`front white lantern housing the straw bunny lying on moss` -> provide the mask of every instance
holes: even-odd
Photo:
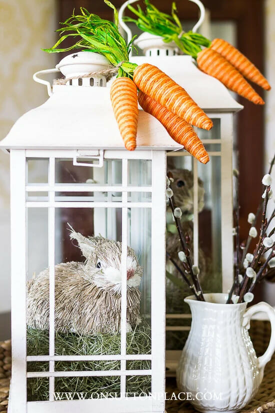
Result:
[[[58,72],[60,68],[67,77],[79,76],[107,64],[102,56],[81,52],[67,56],[57,69],[45,72]],[[37,74],[34,78],[38,80]],[[137,149],[126,151],[102,76],[75,79],[66,86],[54,85],[52,90],[48,82],[40,83],[47,85],[49,99],[24,114],[0,143],[0,147],[10,153],[11,182],[12,378],[8,411],[163,412],[166,151],[181,147],[158,121],[139,111]],[[122,243],[121,260],[118,256],[120,281],[116,281],[118,291],[121,285],[121,331],[117,332],[120,351],[114,354],[107,348],[96,354],[68,355],[56,347],[55,323],[59,315],[55,314],[54,307],[59,305],[60,309],[60,302],[57,304],[55,298],[55,265],[66,261],[64,242],[69,237],[69,232],[63,231],[67,228],[66,222],[77,231],[83,211],[89,212],[84,214],[84,218],[89,216],[89,219],[82,222],[89,235],[101,235]],[[129,328],[127,245],[133,248],[143,268],[140,315],[149,325],[151,348],[146,353],[140,351],[138,344],[131,348],[126,338]],[[106,259],[113,258],[112,251],[107,255]],[[43,306],[44,300],[49,302],[48,345],[43,352],[38,342],[33,353],[29,352],[26,334],[26,282],[31,282],[34,272],[37,277],[46,267],[49,268],[49,296],[41,295],[40,304]],[[64,313],[74,304],[66,301],[66,288],[64,284]],[[35,322],[39,325],[41,320]],[[100,368],[60,368],[60,363],[75,366],[83,361],[97,363]],[[132,369],[132,361],[148,361],[149,367]],[[115,368],[107,367],[114,362]],[[32,368],[28,367],[30,363]],[[135,395],[127,394],[129,383],[133,383],[132,391],[135,380],[141,376],[149,383],[146,394],[139,388]],[[94,385],[92,388],[95,393],[102,391],[105,394],[102,397],[79,396],[77,385],[71,388],[71,392],[75,391],[72,396],[56,397],[56,391],[62,391],[58,384],[61,379],[65,378],[69,386],[73,379],[81,381],[83,377],[95,381],[111,377],[118,383],[119,395],[110,396],[108,392],[106,395],[107,390],[98,384],[96,391]],[[38,387],[46,386],[43,397],[27,394],[27,383],[35,380]]]

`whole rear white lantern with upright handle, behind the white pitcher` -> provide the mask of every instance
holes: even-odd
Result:
[[[129,0],[119,11],[120,25],[126,31],[128,40],[132,34],[122,22],[122,15]],[[191,0],[193,1],[193,0]],[[204,7],[195,0],[200,9],[200,19],[193,28],[196,31],[204,18]],[[192,173],[193,185],[189,190],[192,221],[193,263],[199,265],[200,255],[207,255],[207,280],[210,290],[205,292],[227,292],[233,281],[233,114],[242,109],[228,90],[215,78],[201,72],[190,56],[178,55],[179,50],[173,43],[164,43],[158,36],[142,33],[134,44],[141,49],[144,56],[131,57],[136,64],[149,63],[158,67],[177,84],[182,86],[192,99],[204,110],[213,121],[213,128],[206,132],[194,128],[201,139],[210,161],[201,165],[186,151],[169,152],[167,161],[173,168],[189,170]],[[167,167],[167,169],[169,169]],[[180,181],[182,181],[180,179]],[[200,199],[200,186],[204,187],[204,199]],[[190,201],[188,201],[190,203]],[[204,203],[203,211],[201,211]],[[182,206],[182,205],[176,205]],[[169,241],[167,241],[169,242]],[[176,254],[177,255],[177,251]],[[210,263],[210,265],[209,265]],[[172,265],[170,265],[172,268]],[[177,273],[177,271],[175,271]],[[202,273],[202,271],[201,271]],[[201,275],[203,276],[203,274]],[[203,284],[203,281],[202,281]],[[209,282],[208,282],[209,285]],[[209,288],[209,287],[208,287]],[[174,289],[178,290],[175,286]],[[190,313],[184,308],[184,294],[177,291],[179,305],[174,290],[168,296],[166,291],[166,368],[167,375],[175,375],[177,361],[181,354],[186,334],[190,329]],[[189,291],[186,292],[189,295]],[[180,298],[181,297],[181,298]],[[170,298],[170,299],[169,299]]]

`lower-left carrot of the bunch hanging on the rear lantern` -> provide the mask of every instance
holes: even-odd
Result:
[[[197,66],[202,72],[218,79],[226,88],[243,96],[256,105],[263,105],[261,97],[242,75],[213,49],[205,48],[197,54]]]

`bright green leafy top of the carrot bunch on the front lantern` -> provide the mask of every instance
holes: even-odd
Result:
[[[114,12],[114,23],[103,20],[97,15],[89,13],[86,9],[80,8],[81,15],[75,15],[74,11],[64,23],[60,32],[60,39],[51,49],[44,49],[45,52],[67,52],[69,50],[81,50],[99,53],[107,58],[112,66],[118,66],[118,77],[132,78],[136,64],[129,62],[129,50],[132,41],[127,45],[118,31],[118,16],[115,7],[104,0],[106,5]],[[77,41],[70,47],[61,49],[58,46],[67,38],[72,37]]]

